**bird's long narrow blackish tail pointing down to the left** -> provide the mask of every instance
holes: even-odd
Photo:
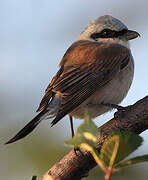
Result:
[[[18,141],[24,138],[25,136],[27,136],[28,134],[30,134],[35,129],[35,127],[42,121],[43,119],[42,117],[46,112],[47,112],[46,110],[41,111],[23,129],[21,129],[12,139],[10,139],[5,144],[14,143],[15,141]]]

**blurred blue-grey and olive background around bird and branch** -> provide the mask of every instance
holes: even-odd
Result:
[[[148,94],[148,1],[147,0],[0,0],[0,179],[29,180],[41,177],[70,150],[64,141],[71,137],[69,120],[50,128],[44,121],[29,136],[4,146],[35,115],[44,90],[58,70],[66,49],[98,16],[109,14],[136,30],[141,38],[131,41],[135,59],[134,82],[122,105],[129,105]],[[98,126],[113,112],[98,117]],[[75,120],[75,128],[82,121]],[[146,140],[132,156],[146,154]],[[128,167],[114,180],[147,180],[148,164]],[[104,179],[99,168],[88,180]]]

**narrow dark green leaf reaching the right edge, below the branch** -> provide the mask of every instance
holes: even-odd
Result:
[[[143,155],[143,156],[137,156],[132,159],[128,159],[126,161],[122,161],[119,164],[117,164],[115,167],[121,168],[121,167],[129,166],[129,165],[137,164],[137,163],[143,163],[143,162],[148,162],[148,154]]]

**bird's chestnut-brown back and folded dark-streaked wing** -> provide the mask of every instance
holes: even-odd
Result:
[[[61,94],[62,103],[52,121],[54,125],[108,83],[129,57],[130,51],[121,45],[90,41],[74,43],[67,50],[60,70],[46,89],[39,110],[47,106],[53,94]]]

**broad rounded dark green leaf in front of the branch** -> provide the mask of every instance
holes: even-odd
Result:
[[[100,159],[106,167],[113,166],[135,151],[142,144],[142,137],[131,132],[115,132],[104,142]]]

